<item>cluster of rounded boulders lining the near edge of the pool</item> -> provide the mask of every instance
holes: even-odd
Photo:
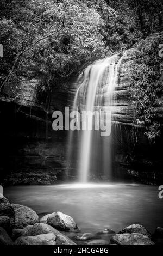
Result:
[[[66,232],[67,235],[62,232]],[[163,228],[156,233],[163,236]],[[68,237],[69,236],[69,237]],[[102,236],[106,236],[103,239]],[[70,239],[71,237],[71,239]],[[111,237],[110,242],[108,237]],[[71,216],[53,212],[40,218],[27,206],[10,204],[0,194],[0,245],[154,245],[142,225],[133,224],[118,234],[111,229],[81,233]]]

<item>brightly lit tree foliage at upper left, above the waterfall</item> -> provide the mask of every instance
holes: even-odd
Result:
[[[22,51],[8,83],[16,83],[21,77],[39,77],[41,90],[52,89],[80,65],[106,54],[104,21],[85,1],[11,0],[1,5],[2,83]],[[58,27],[58,33],[30,48]]]

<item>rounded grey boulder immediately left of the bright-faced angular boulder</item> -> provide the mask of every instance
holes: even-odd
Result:
[[[39,216],[31,208],[20,204],[11,206],[15,212],[15,228],[24,228],[39,222]]]

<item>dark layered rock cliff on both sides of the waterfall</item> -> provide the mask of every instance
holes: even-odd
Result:
[[[135,124],[135,106],[128,84],[133,50],[117,54],[115,61],[120,58],[114,92],[117,105],[112,117],[116,131],[112,141],[114,176],[159,184],[163,179],[162,135],[155,144],[151,144],[144,135],[144,127]],[[79,84],[74,78],[67,81],[64,88],[54,89],[45,102],[37,98],[38,86],[38,80],[23,81],[18,95],[15,96],[10,86],[5,92],[8,96],[1,96],[1,173],[5,184],[51,184],[65,179],[68,133],[52,130],[52,113],[55,110],[64,112],[65,106],[72,107]],[[162,121],[162,95],[159,100],[158,116]],[[74,176],[72,172],[71,178]],[[101,178],[100,172],[98,178]]]

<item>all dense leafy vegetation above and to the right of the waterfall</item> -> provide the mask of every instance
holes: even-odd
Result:
[[[161,29],[162,15],[162,0],[0,0],[1,93],[12,85],[18,95],[22,78],[39,78],[40,92],[51,92],[83,64],[138,44],[131,86],[154,138],[160,60],[158,42],[144,39]]]

